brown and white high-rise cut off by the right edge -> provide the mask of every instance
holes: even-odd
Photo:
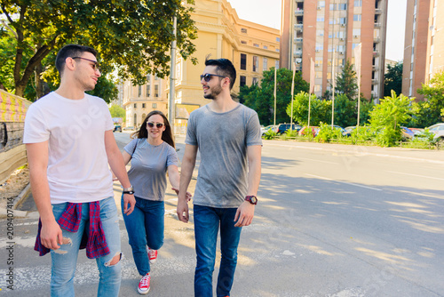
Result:
[[[438,13],[441,12],[441,13]],[[402,70],[402,93],[424,100],[417,93],[434,74],[444,70],[444,2],[408,0]]]

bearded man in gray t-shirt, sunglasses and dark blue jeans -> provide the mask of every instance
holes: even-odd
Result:
[[[203,95],[212,100],[189,117],[181,166],[178,219],[188,221],[186,189],[197,151],[201,165],[194,192],[197,264],[194,296],[212,296],[212,271],[220,228],[222,259],[216,293],[229,296],[242,226],[249,226],[258,203],[262,140],[258,114],[230,95],[236,70],[230,60],[206,60]],[[220,227],[219,227],[220,226]]]

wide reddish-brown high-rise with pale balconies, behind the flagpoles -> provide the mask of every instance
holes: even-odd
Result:
[[[362,44],[361,92],[382,98],[386,22],[387,0],[282,0],[281,67],[296,65],[309,82],[313,59],[314,93],[321,96]]]

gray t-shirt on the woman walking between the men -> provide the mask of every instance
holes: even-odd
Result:
[[[134,187],[134,195],[142,199],[163,201],[168,166],[178,165],[176,149],[164,141],[158,146],[151,145],[146,138],[131,140],[124,149],[132,156],[128,177]]]

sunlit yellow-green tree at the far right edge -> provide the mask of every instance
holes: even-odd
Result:
[[[429,84],[423,84],[418,93],[424,95],[428,104],[423,104],[426,112],[422,121],[426,126],[444,122],[444,70],[436,73]]]

